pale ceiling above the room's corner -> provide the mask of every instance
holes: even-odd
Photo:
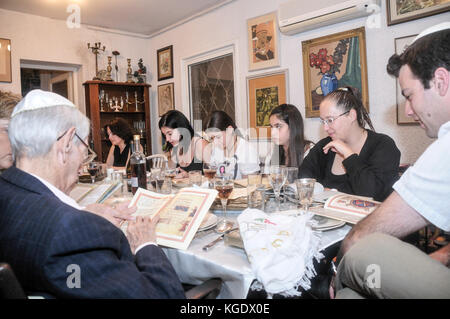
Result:
[[[58,20],[67,20],[79,8],[82,25],[151,37],[231,1],[0,0],[0,8]]]

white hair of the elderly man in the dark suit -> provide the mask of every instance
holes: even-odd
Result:
[[[89,135],[89,119],[74,107],[57,105],[18,113],[8,128],[13,159],[47,155],[58,137],[71,127],[83,140]],[[74,141],[81,143],[77,138]]]

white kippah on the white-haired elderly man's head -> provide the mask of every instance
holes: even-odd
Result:
[[[72,102],[59,94],[42,90],[32,90],[16,105],[11,118],[25,111],[61,105],[75,107]]]

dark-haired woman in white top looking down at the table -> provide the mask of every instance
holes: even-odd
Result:
[[[224,111],[214,111],[206,124],[206,134],[212,141],[210,162],[240,179],[259,171],[258,152],[242,137],[233,119]]]

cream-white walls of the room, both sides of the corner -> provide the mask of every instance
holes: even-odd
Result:
[[[77,100],[81,110],[85,109],[84,88],[82,83],[92,79],[95,73],[95,58],[87,49],[88,42],[102,42],[106,52],[99,55],[99,69],[104,69],[107,56],[113,50],[120,52],[118,60],[121,71],[120,81],[125,79],[126,58],[132,58],[133,70],[137,60],[144,59],[148,69],[148,82],[152,85],[151,122],[153,129],[153,151],[161,149],[161,138],[157,112],[158,85],[175,82],[175,103],[177,109],[187,115],[188,105],[185,92],[187,83],[182,62],[204,52],[234,45],[236,72],[236,118],[237,125],[247,127],[247,88],[246,78],[251,75],[289,70],[289,102],[296,105],[305,116],[303,65],[301,42],[332,33],[364,26],[366,19],[356,19],[294,36],[280,34],[281,65],[262,71],[248,71],[247,19],[276,11],[285,0],[236,0],[195,20],[169,30],[150,39],[118,35],[102,31],[67,28],[65,21],[57,21],[29,14],[0,9],[0,36],[12,41],[13,82],[0,83],[0,90],[20,93],[20,60],[59,62],[80,66],[76,79]],[[396,124],[395,79],[388,76],[385,69],[388,58],[394,52],[394,39],[417,34],[428,26],[450,20],[450,12],[401,23],[388,27],[386,24],[385,1],[382,1],[381,28],[366,28],[366,46],[368,61],[370,115],[379,132],[390,135],[402,152],[402,162],[414,162],[430,144],[422,129],[418,126],[398,126]],[[174,78],[157,81],[156,50],[173,45]],[[113,59],[114,60],[114,59]],[[305,119],[306,136],[318,141],[325,134],[317,119]],[[156,133],[156,134],[155,134]]]

